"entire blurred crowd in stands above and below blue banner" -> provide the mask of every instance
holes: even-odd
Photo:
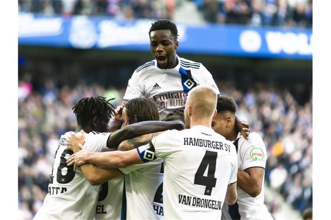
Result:
[[[189,5],[192,7],[187,7],[187,11],[181,10]],[[312,26],[312,0],[19,0],[18,10],[64,17],[108,16],[119,20],[168,18],[189,22],[188,19],[194,18],[193,22],[197,23]],[[184,15],[194,16],[178,16],[180,10]],[[60,136],[76,129],[74,104],[83,97],[100,95],[116,98],[112,104],[120,105],[127,79],[138,62],[107,61],[95,68],[74,60],[65,68],[61,59],[64,58],[52,61],[52,65],[26,64],[24,60],[21,60],[24,64],[20,64],[19,57],[19,65],[33,67],[29,70],[31,74],[19,70],[19,219],[33,218],[43,203]],[[213,68],[217,69],[217,65]],[[282,74],[298,77],[291,70]],[[81,80],[76,82],[76,79]],[[250,81],[254,83],[245,82],[248,88],[241,88],[230,79],[215,81],[221,94],[236,101],[239,118],[249,122],[251,131],[259,133],[264,140],[268,154],[265,185],[271,192],[265,194],[265,204],[276,219],[285,219],[282,201],[300,212],[312,207],[311,91],[304,91],[307,85],[297,90],[291,85],[290,91],[285,81],[266,84],[256,79],[257,76]],[[95,83],[87,83],[90,81]],[[102,82],[110,82],[112,86]]]

